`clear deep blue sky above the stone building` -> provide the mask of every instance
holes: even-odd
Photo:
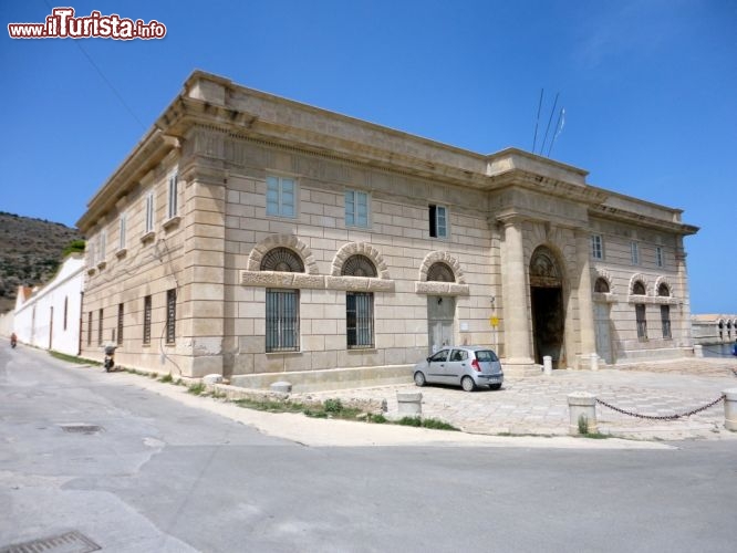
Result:
[[[167,36],[8,36],[56,6]],[[737,312],[733,0],[0,0],[0,15],[2,211],[73,226],[194,69],[482,154],[532,148],[544,88],[543,129],[556,93],[565,108],[551,157],[685,209],[692,310]]]

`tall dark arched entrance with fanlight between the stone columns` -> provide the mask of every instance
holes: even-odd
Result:
[[[538,247],[530,259],[530,302],[534,361],[552,357],[553,368],[565,366],[563,349],[565,309],[562,272],[552,251]]]

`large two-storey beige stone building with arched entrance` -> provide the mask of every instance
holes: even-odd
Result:
[[[79,221],[83,353],[243,383],[449,343],[507,371],[679,356],[681,215],[195,72]]]

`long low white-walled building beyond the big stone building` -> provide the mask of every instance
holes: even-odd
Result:
[[[12,322],[19,342],[68,355],[80,354],[84,270],[82,254],[72,253],[43,288],[19,286]]]

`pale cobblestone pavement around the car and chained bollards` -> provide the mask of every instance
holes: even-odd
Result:
[[[422,392],[423,416],[450,422],[466,432],[567,435],[568,394],[588,392],[621,409],[650,416],[684,414],[703,407],[728,388],[737,388],[737,359],[683,359],[641,363],[617,368],[554,371],[551,376],[507,376],[500,390],[474,393],[446,386],[414,384],[305,396],[385,399],[396,416],[396,392]],[[724,401],[678,420],[646,420],[596,405],[599,431],[639,439],[737,439],[724,428]]]

